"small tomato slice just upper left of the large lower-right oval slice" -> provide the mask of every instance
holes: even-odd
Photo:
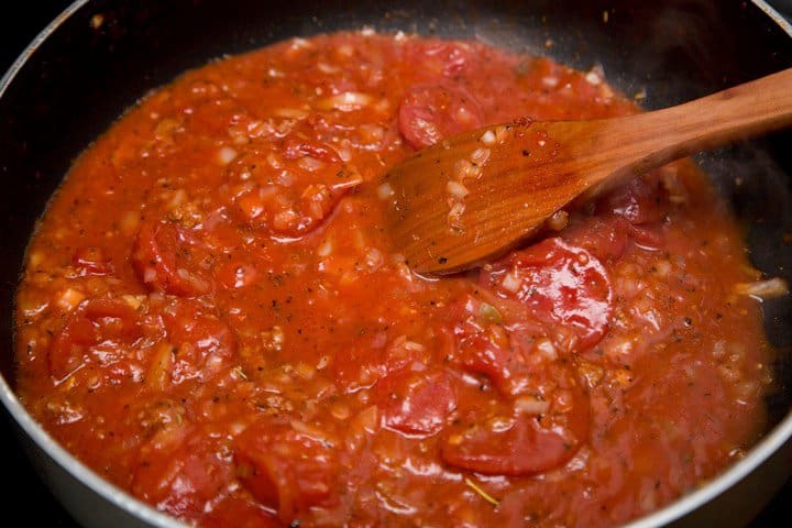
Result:
[[[443,371],[405,370],[385,377],[375,387],[382,402],[382,424],[416,437],[440,432],[446,417],[457,408],[451,376]]]

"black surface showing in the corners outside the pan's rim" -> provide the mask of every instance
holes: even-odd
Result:
[[[792,14],[792,0],[777,0]],[[0,73],[16,58],[24,46],[41,29],[54,19],[70,1],[37,0],[8,2],[0,14]],[[13,479],[14,492],[3,497],[7,518],[25,519],[26,526],[48,528],[79,528],[64,508],[50,494],[34,473],[11,428],[4,411],[0,415],[0,452],[3,453],[3,473]],[[21,499],[24,497],[24,501]],[[16,499],[19,498],[19,499]],[[14,515],[18,514],[18,515]],[[792,480],[779,492],[768,507],[751,522],[750,528],[792,525]]]

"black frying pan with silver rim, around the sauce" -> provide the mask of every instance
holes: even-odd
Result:
[[[91,24],[97,14],[102,16],[98,29]],[[623,91],[646,87],[649,108],[792,66],[790,26],[773,20],[761,0],[76,2],[34,43],[28,61],[18,62],[0,81],[0,213],[7,218],[0,230],[0,295],[7,316],[0,327],[0,372],[8,383],[0,381],[0,399],[45,481],[86,526],[178,525],[105,484],[63,452],[9,388],[14,377],[12,295],[36,218],[75,156],[146,90],[222,54],[363,25],[481,38],[549,53],[583,69],[600,63],[609,82]],[[755,265],[792,282],[792,246],[781,242],[792,232],[790,145],[792,134],[785,132],[700,162],[746,226]],[[738,176],[744,182],[739,186]],[[787,352],[792,345],[792,306],[789,299],[767,302],[765,314],[770,339],[781,350],[776,365],[781,383],[768,397],[772,428],[766,440],[724,476],[636,526],[740,526],[792,471],[792,361]]]

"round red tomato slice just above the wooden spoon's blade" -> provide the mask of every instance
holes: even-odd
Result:
[[[484,119],[475,98],[449,82],[421,85],[408,90],[402,99],[398,122],[407,143],[418,150],[477,129]]]

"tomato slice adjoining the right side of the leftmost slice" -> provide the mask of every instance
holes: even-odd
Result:
[[[172,383],[209,380],[233,359],[237,342],[231,329],[198,302],[178,301],[164,310],[163,320],[174,350]]]

